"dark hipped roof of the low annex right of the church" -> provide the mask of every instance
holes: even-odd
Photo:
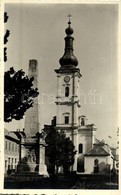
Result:
[[[109,156],[110,153],[107,152],[102,145],[94,144],[93,148],[91,148],[85,156]]]

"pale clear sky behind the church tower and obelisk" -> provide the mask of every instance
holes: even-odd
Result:
[[[5,71],[13,66],[28,74],[29,60],[38,61],[40,128],[56,115],[54,69],[60,67],[67,15],[71,13],[74,55],[82,74],[80,115],[96,125],[98,139],[114,146],[118,128],[118,5],[21,3],[5,4],[5,11],[9,15],[5,29],[10,30]],[[24,120],[13,120],[5,127],[22,130]]]

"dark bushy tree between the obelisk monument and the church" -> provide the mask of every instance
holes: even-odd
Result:
[[[69,168],[74,164],[74,156],[76,154],[75,146],[69,137],[66,138],[65,133],[58,132],[53,126],[45,128],[46,156],[49,159],[48,172],[50,174],[58,173],[58,168],[63,167],[64,173],[68,174]]]

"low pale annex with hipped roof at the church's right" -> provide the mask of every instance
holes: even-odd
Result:
[[[85,172],[92,173],[110,173],[114,168],[114,156],[110,147],[103,143],[94,143],[93,147],[84,154]]]

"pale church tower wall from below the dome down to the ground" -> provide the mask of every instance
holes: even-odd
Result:
[[[64,77],[69,76],[70,81],[65,82]],[[79,75],[77,72],[73,73],[61,73],[57,74],[57,113],[56,113],[56,128],[58,130],[64,130],[66,137],[70,137],[75,145],[75,150],[78,150],[78,125],[79,125]],[[65,96],[65,88],[69,87],[69,96]],[[69,117],[68,124],[65,123],[65,117]],[[72,136],[72,128],[73,136]],[[77,170],[77,157],[78,152],[75,156],[75,163],[73,170]]]

